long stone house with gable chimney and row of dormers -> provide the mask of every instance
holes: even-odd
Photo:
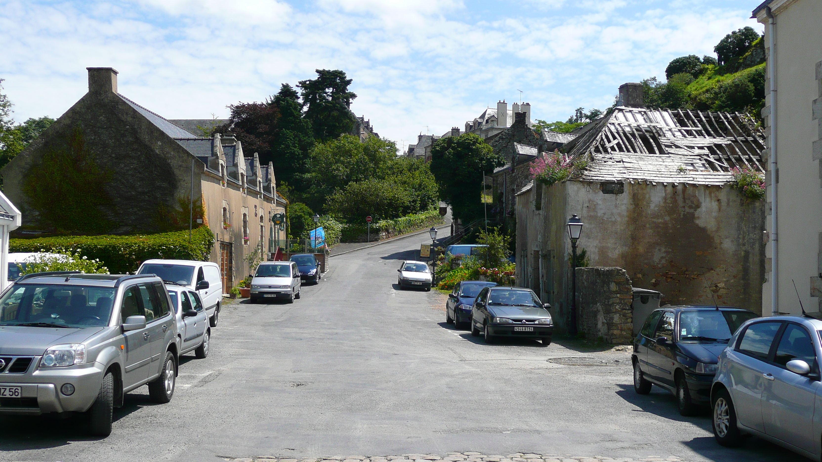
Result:
[[[112,68],[88,72],[88,93],[0,169],[22,211],[17,235],[187,229],[194,210],[192,225],[215,233],[210,260],[229,289],[250,271],[244,257],[276,239],[270,216],[286,202],[271,164],[233,136],[196,136],[120,95]]]

